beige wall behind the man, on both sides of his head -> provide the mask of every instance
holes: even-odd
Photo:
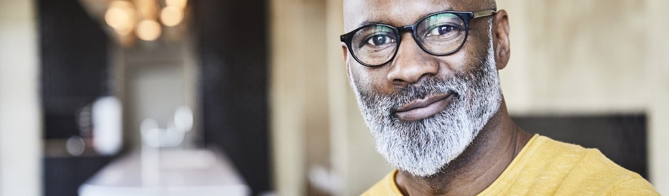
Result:
[[[308,167],[314,162],[330,169],[337,186],[331,195],[358,195],[391,168],[373,149],[347,83],[337,39],[343,33],[343,1],[270,4],[278,195],[311,193],[306,191]],[[669,60],[663,58],[669,55],[664,13],[669,2],[498,0],[498,9],[510,15],[512,57],[500,71],[510,112],[646,113],[650,181],[669,195],[669,142],[664,142],[669,140]],[[319,29],[323,24],[325,31]],[[323,39],[326,48],[319,45]],[[322,149],[328,141],[330,148]],[[327,153],[329,166],[322,162],[326,158],[314,158]]]

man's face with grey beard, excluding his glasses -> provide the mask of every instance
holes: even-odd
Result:
[[[401,27],[439,11],[482,11],[486,1],[347,0],[345,29],[363,23]],[[489,9],[489,8],[488,8]],[[377,151],[401,171],[429,176],[458,157],[498,110],[492,17],[470,21],[466,43],[453,54],[421,50],[401,32],[397,55],[380,67],[359,64],[345,49],[349,81]]]

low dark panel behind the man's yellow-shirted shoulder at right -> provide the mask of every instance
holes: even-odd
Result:
[[[531,134],[541,134],[585,148],[599,149],[611,161],[648,177],[646,116],[514,116]]]

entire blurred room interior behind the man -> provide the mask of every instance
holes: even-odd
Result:
[[[512,118],[669,195],[665,0],[498,0]],[[342,0],[0,0],[0,195],[359,195]]]

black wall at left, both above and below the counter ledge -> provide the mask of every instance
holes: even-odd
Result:
[[[43,137],[79,135],[75,113],[107,94],[107,37],[77,0],[39,0]],[[44,195],[77,189],[112,157],[42,159]]]

